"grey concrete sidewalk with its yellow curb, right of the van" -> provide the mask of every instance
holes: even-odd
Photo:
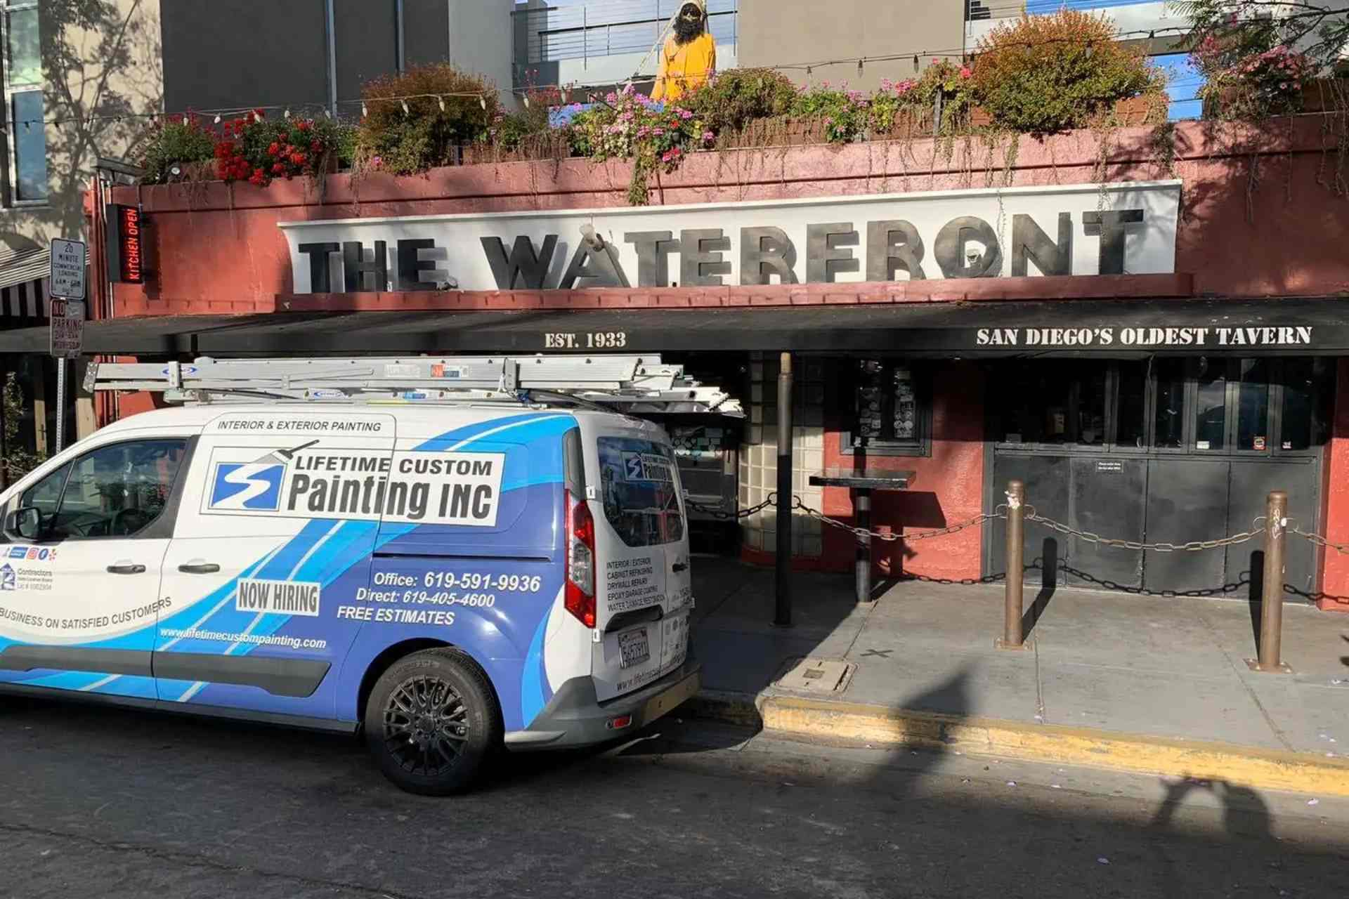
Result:
[[[1245,600],[1027,589],[1031,647],[996,650],[1001,585],[904,581],[857,604],[851,577],[696,558],[699,709],[803,737],[956,747],[1349,795],[1349,616],[1284,608],[1283,659],[1256,674]],[[1031,609],[1031,604],[1035,608]],[[801,658],[847,663],[781,683]]]

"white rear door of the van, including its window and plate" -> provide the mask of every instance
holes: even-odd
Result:
[[[639,689],[684,660],[688,536],[679,470],[656,430],[595,435],[596,629],[600,701]]]

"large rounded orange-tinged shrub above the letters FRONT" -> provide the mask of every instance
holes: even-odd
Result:
[[[1083,128],[1120,100],[1166,89],[1141,49],[1103,18],[1063,9],[1023,16],[979,40],[973,88],[994,127],[1027,133]]]

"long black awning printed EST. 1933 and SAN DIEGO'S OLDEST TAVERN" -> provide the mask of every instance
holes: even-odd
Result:
[[[46,352],[46,329],[0,352]],[[90,322],[89,353],[304,356],[540,352],[900,352],[929,356],[1349,354],[1349,299],[1117,299],[370,311]]]

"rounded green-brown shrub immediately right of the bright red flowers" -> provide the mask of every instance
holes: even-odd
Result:
[[[453,164],[457,148],[486,142],[500,116],[496,88],[449,63],[375,78],[362,89],[362,100],[366,115],[356,135],[356,166],[394,175]]]

